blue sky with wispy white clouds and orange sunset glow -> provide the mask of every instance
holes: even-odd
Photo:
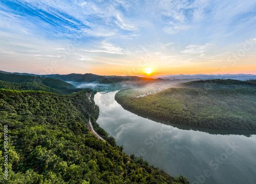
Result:
[[[0,70],[256,74],[256,1],[0,2]]]

